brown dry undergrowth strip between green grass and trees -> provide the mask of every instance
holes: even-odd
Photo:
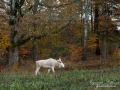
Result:
[[[65,64],[65,68],[56,67],[55,70],[99,70],[120,67],[120,60],[114,60],[111,57],[103,60],[99,56],[91,56],[86,61],[64,59],[63,62]],[[33,60],[21,60],[18,69],[15,69],[15,67],[13,68],[13,66],[8,67],[6,64],[0,64],[0,73],[34,73],[35,66],[36,65]],[[47,72],[47,70],[41,69],[41,72]]]

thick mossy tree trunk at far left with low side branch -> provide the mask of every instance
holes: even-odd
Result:
[[[10,25],[10,42],[12,46],[9,47],[9,65],[13,62],[18,63],[18,33],[20,30],[20,22],[22,15],[22,5],[25,0],[10,0],[9,25]]]

